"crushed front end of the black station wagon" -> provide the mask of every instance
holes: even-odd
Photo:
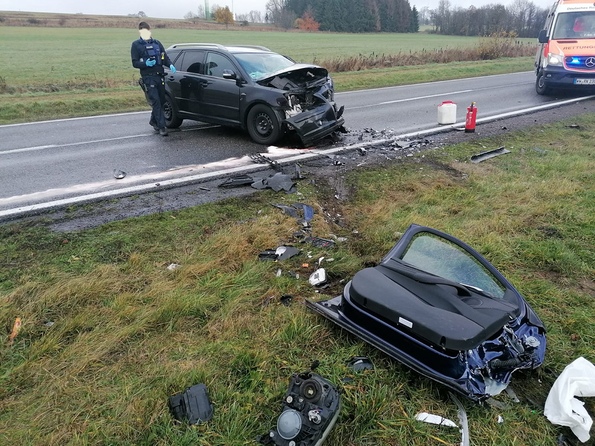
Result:
[[[282,124],[295,130],[304,145],[333,133],[345,123],[343,106],[334,102],[334,84],[328,71],[309,64],[296,64],[259,80],[259,84],[283,90],[277,108]]]

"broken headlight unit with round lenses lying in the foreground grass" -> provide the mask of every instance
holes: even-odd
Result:
[[[256,441],[275,446],[320,446],[340,409],[339,390],[332,382],[312,370],[293,373],[276,427]]]

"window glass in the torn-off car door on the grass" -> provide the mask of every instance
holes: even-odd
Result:
[[[506,288],[475,257],[450,241],[430,233],[419,233],[401,259],[409,265],[462,285],[503,297]]]

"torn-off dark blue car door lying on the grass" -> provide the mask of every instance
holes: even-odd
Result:
[[[306,306],[428,378],[479,402],[544,360],[546,329],[471,247],[411,225],[342,296]]]

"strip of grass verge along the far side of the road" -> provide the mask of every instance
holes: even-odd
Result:
[[[337,91],[396,86],[436,80],[531,70],[533,59],[450,62],[334,74]],[[0,95],[0,124],[148,109],[139,87],[86,89],[57,93]]]

